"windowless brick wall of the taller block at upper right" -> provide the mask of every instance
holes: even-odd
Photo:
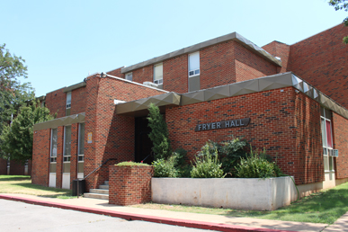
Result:
[[[348,108],[348,34],[343,24],[290,46],[290,69],[335,102]]]

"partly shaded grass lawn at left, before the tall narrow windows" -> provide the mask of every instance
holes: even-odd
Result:
[[[71,190],[31,184],[29,175],[0,175],[0,193],[21,193],[62,199],[74,198],[71,196]]]

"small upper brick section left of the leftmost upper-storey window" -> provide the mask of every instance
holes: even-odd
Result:
[[[63,92],[64,88],[46,94],[46,107],[51,114],[57,112],[57,118],[66,116],[67,94]]]

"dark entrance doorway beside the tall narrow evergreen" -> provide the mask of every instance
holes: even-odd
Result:
[[[135,118],[135,162],[151,165],[154,161],[152,141],[148,138],[151,129],[147,126],[147,117]]]

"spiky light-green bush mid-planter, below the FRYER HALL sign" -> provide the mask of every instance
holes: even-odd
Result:
[[[191,171],[192,178],[224,178],[226,175],[221,169],[222,164],[219,163],[218,149],[211,153],[210,146],[203,146],[200,156],[195,157],[194,163]]]

